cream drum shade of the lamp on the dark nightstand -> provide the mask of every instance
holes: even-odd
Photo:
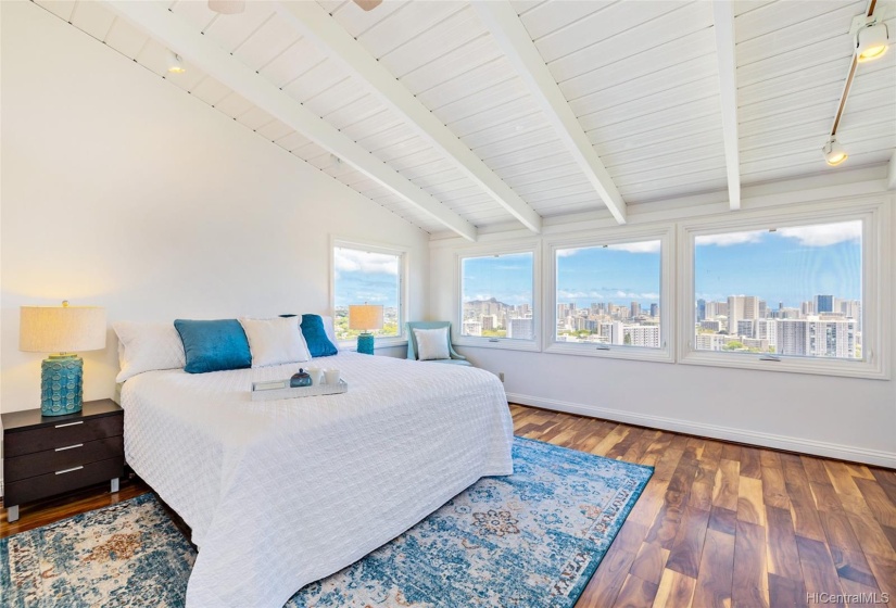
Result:
[[[105,308],[101,306],[22,306],[18,350],[66,353],[105,349]]]

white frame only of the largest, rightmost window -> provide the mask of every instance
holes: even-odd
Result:
[[[867,353],[863,360],[790,356],[781,356],[780,360],[764,360],[758,354],[750,356],[744,353],[695,349],[693,319],[696,318],[696,237],[854,220],[862,221],[861,325],[862,353]],[[679,223],[679,362],[684,365],[889,379],[889,322],[885,314],[891,302],[889,225],[889,207],[880,199],[855,203],[817,203],[798,210],[791,207],[742,211],[736,217],[716,216]]]

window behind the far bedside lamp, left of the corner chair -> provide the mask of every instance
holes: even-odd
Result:
[[[339,341],[354,340],[363,329],[349,328],[349,306],[382,306],[382,328],[370,329],[381,338],[401,338],[404,328],[405,254],[361,244],[333,244],[333,325]]]

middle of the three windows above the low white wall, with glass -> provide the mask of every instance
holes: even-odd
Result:
[[[607,241],[552,243],[550,352],[672,360],[666,286],[671,228],[634,237],[606,232]],[[601,237],[596,237],[601,238]],[[610,240],[614,239],[614,240]]]

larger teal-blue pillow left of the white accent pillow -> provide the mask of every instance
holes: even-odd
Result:
[[[187,355],[184,371],[187,373],[252,367],[249,340],[237,319],[177,319],[174,327],[184,342],[184,353]]]

